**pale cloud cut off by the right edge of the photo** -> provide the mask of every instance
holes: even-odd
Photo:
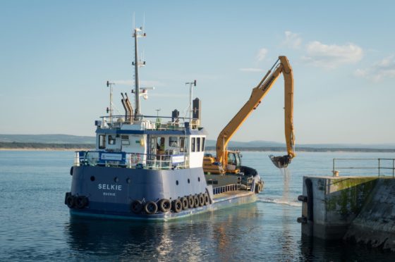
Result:
[[[395,77],[395,56],[387,56],[381,61],[374,63],[369,68],[357,69],[354,74],[358,77],[365,77],[373,81]]]

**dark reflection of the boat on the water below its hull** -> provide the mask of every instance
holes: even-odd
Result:
[[[72,217],[65,235],[78,258],[233,260],[257,216],[256,204],[248,204],[166,223]]]

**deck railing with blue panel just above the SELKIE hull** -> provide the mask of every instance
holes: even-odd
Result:
[[[75,166],[112,166],[120,168],[188,168],[188,154],[140,154],[106,151],[76,151]]]

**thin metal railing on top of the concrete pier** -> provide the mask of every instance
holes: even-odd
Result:
[[[345,164],[351,166],[344,166]],[[353,164],[356,166],[352,166]],[[377,172],[379,177],[392,175],[394,178],[395,158],[333,158],[332,172],[335,174],[339,170],[362,170],[362,174],[358,175],[372,175]]]

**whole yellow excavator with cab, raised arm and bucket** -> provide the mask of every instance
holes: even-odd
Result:
[[[291,65],[286,56],[279,56],[272,68],[262,78],[260,83],[253,89],[250,99],[238,111],[231,121],[219,133],[217,139],[217,157],[207,154],[203,158],[203,170],[206,174],[237,174],[247,168],[241,166],[241,154],[239,151],[230,151],[227,149],[231,137],[236,133],[239,127],[259,106],[267,92],[272,88],[274,82],[279,78],[281,73],[284,76],[284,97],[285,97],[285,139],[286,156],[269,156],[277,168],[286,168],[293,157],[296,156],[294,145],[295,137],[293,135],[293,73]]]

